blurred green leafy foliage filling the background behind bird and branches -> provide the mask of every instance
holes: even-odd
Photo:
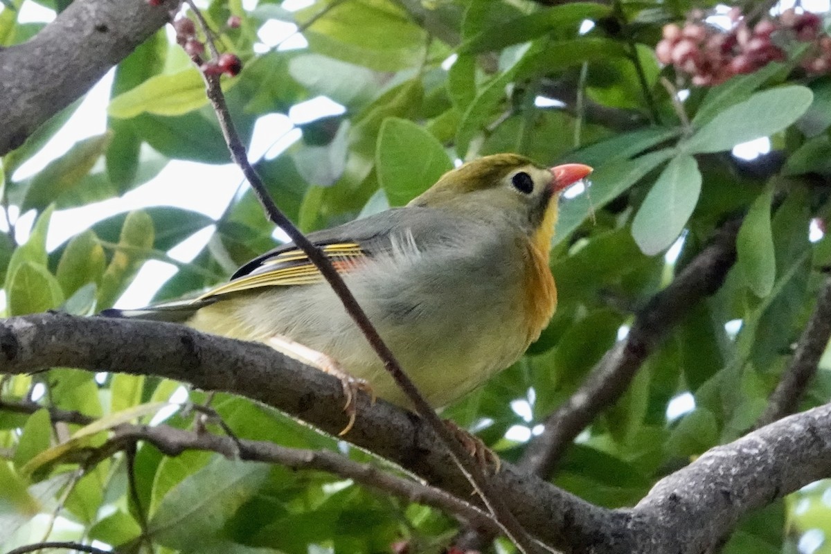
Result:
[[[23,3],[2,0],[0,45],[42,27],[18,22]],[[37,0],[57,11],[67,3]],[[790,7],[746,4],[748,18]],[[724,285],[671,329],[627,393],[568,450],[553,483],[602,506],[629,506],[662,475],[739,437],[759,417],[831,265],[824,233],[831,77],[804,71],[798,46],[785,48],[784,60],[705,87],[662,66],[654,48],[667,23],[692,17],[729,27],[729,7],[716,2],[216,0],[204,8],[220,46],[244,63],[238,76],[224,77],[243,140],[264,116],[305,101],[322,96],[342,106],[297,125],[294,142],[256,161],[304,231],[406,203],[453,164],[482,154],[595,167],[588,190],[562,200],[552,245],[559,306],[550,326],[528,355],[444,417],[500,456],[519,458],[543,419],[626,336],[636,311],[722,224],[742,217],[738,260]],[[811,9],[825,17],[828,5]],[[226,24],[232,16],[238,27]],[[275,22],[297,28],[282,47],[268,39]],[[53,213],[125,194],[173,159],[229,159],[198,70],[170,29],[116,68],[106,133],[16,178],[75,108],[2,158],[7,316],[96,313],[118,301],[149,259],[176,267],[156,301],[194,294],[273,247],[272,226],[241,188],[219,218],[135,210],[47,251]],[[756,157],[731,153],[751,140]],[[214,194],[209,182],[191,186],[194,203]],[[31,229],[18,228],[27,221]],[[210,238],[194,259],[172,261],[167,252],[204,228]],[[7,404],[77,410],[109,428],[125,414],[159,421],[157,403],[182,400],[182,391],[167,380],[52,368],[5,378],[0,394]],[[829,395],[826,351],[803,405]],[[207,395],[191,392],[190,400]],[[261,405],[230,395],[210,400],[240,437],[368,458]],[[192,415],[166,415],[170,425],[194,424]],[[102,444],[106,431],[67,443],[78,429],[53,425],[46,410],[0,405],[2,550],[49,537],[141,552],[390,552],[401,541],[411,552],[441,552],[458,528],[445,514],[337,476],[219,454],[168,458],[140,445],[132,458],[116,453],[82,466],[67,453]],[[831,552],[829,522],[831,492],[816,483],[747,517],[723,552]],[[150,537],[139,540],[143,525]]]

